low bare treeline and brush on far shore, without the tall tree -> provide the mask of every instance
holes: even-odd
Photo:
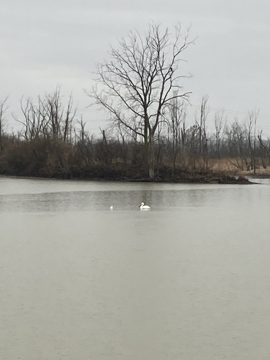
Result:
[[[21,100],[21,115],[14,117],[22,129],[5,131],[9,119],[6,98],[0,103],[0,173],[59,178],[145,179],[144,139],[121,123],[100,130],[95,138],[78,119],[72,96],[60,101],[60,90],[39,97],[37,102]],[[223,112],[215,114],[215,132],[210,121],[207,97],[192,126],[186,122],[184,102],[174,101],[161,117],[154,136],[155,179],[194,180],[213,173],[217,162],[226,161],[235,171],[256,172],[270,166],[270,142],[256,128],[258,112],[232,125]],[[224,168],[226,171],[226,168]],[[208,174],[208,175],[207,175]],[[210,175],[209,175],[210,176]]]

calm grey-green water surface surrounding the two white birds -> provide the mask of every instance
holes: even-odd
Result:
[[[0,358],[270,359],[270,181],[258,181],[1,177]]]

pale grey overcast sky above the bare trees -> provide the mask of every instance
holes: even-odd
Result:
[[[10,94],[11,118],[22,95],[36,98],[59,84],[63,95],[73,90],[87,129],[96,132],[100,113],[85,110],[82,90],[92,85],[95,62],[129,30],[180,21],[198,36],[182,56],[193,74],[184,84],[193,92],[189,121],[209,94],[210,130],[216,110],[226,109],[232,122],[256,107],[258,126],[270,136],[269,15],[269,0],[0,0],[0,99]]]

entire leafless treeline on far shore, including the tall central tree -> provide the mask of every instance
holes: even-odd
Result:
[[[21,130],[8,133],[8,99],[0,102],[0,173],[45,177],[167,179],[206,181],[213,172],[254,172],[270,166],[270,142],[257,129],[258,112],[239,121],[208,113],[203,96],[190,126],[190,92],[179,84],[182,53],[194,45],[190,28],[174,31],[149,24],[144,34],[129,32],[96,64],[91,105],[104,109],[108,129],[98,138],[78,119],[72,96],[60,89],[36,102],[21,99]],[[207,130],[214,121],[215,131]],[[217,166],[217,164],[219,166]],[[222,165],[223,167],[220,167]]]

